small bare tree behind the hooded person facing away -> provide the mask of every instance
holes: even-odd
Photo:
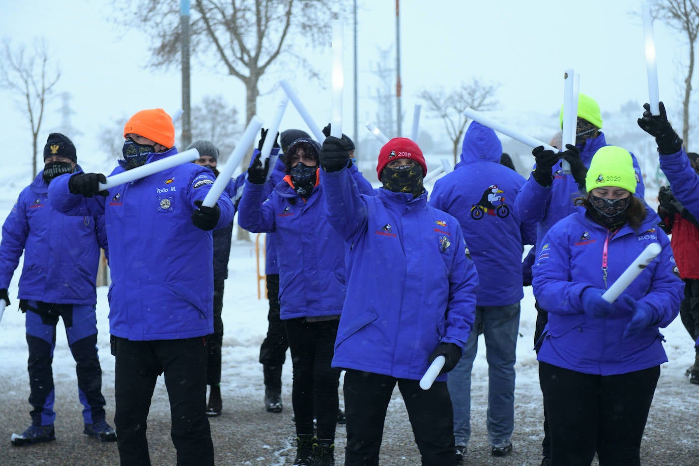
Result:
[[[441,118],[447,129],[447,136],[452,141],[454,165],[459,155],[461,133],[466,128],[468,118],[463,115],[466,107],[473,110],[493,110],[498,101],[494,99],[498,84],[483,84],[476,78],[470,84],[462,83],[459,89],[446,92],[443,88],[424,89],[418,94],[419,99],[427,103],[427,110],[433,117]]]

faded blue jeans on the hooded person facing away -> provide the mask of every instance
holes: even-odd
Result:
[[[514,430],[514,362],[517,357],[519,302],[476,306],[475,322],[461,361],[449,372],[447,386],[454,408],[454,440],[466,446],[471,436],[471,369],[482,329],[488,361],[488,442],[506,446]]]

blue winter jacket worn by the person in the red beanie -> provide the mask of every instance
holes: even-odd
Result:
[[[346,168],[321,180],[327,219],[348,246],[332,365],[418,380],[438,344],[463,348],[473,327],[478,277],[461,226],[426,193],[366,196]]]

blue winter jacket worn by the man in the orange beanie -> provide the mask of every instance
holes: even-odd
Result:
[[[176,154],[148,155],[146,163]],[[118,166],[112,175],[122,173]],[[52,205],[70,215],[104,214],[110,245],[110,333],[129,340],[178,340],[213,333],[213,240],[192,224],[194,201],[203,201],[211,170],[182,163],[128,184],[106,197],[71,194],[71,175],[49,187]],[[233,221],[224,191],[217,228]]]

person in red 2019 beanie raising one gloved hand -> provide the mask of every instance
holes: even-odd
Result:
[[[398,384],[423,465],[456,465],[446,372],[473,327],[475,266],[459,221],[427,204],[424,156],[406,138],[382,147],[383,187],[366,196],[347,165],[346,143],[329,137],[321,159],[329,224],[348,248],[347,299],[333,367],[345,369],[345,465],[377,465],[386,409]],[[436,356],[442,374],[419,388]]]

